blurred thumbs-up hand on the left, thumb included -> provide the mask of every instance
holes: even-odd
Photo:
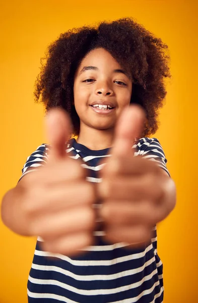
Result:
[[[75,255],[93,242],[95,190],[79,161],[65,153],[71,133],[69,116],[51,110],[46,130],[51,145],[48,162],[24,176],[24,218],[28,235],[42,237],[44,250]]]

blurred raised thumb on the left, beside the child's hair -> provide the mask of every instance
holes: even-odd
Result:
[[[49,161],[67,158],[65,143],[72,133],[72,123],[67,112],[59,108],[49,110],[45,118],[45,131],[51,146]]]

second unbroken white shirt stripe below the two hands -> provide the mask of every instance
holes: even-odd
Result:
[[[110,275],[76,275],[76,274],[70,272],[69,270],[65,270],[65,269],[62,269],[57,266],[38,265],[38,264],[34,264],[34,263],[32,263],[32,268],[36,269],[36,270],[42,270],[42,271],[55,271],[57,273],[61,273],[63,275],[74,278],[77,281],[96,281],[96,280],[97,281],[98,280],[108,281],[108,280],[119,279],[122,277],[131,276],[131,275],[135,275],[137,273],[143,272],[147,266],[151,265],[154,262],[155,262],[155,257],[153,257],[149,261],[145,262],[144,265],[141,267],[138,267],[135,269],[130,269],[130,270],[125,270],[125,271],[118,272],[116,274],[110,274]]]

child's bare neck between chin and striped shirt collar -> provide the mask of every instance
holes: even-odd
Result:
[[[114,129],[94,129],[81,127],[77,142],[92,150],[100,150],[112,147]]]

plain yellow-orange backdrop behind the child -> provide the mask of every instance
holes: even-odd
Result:
[[[0,22],[1,189],[14,187],[27,157],[45,142],[33,85],[46,46],[61,32],[103,19],[135,17],[169,45],[172,80],[157,137],[177,186],[177,206],[158,227],[165,303],[197,300],[197,9],[195,1],[5,1]],[[0,302],[27,302],[35,239],[0,222]]]

